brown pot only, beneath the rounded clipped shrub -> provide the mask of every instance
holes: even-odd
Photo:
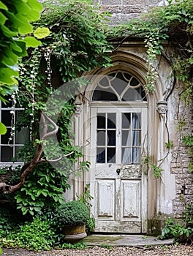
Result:
[[[69,242],[77,242],[85,238],[85,225],[65,225],[64,226],[64,240]]]

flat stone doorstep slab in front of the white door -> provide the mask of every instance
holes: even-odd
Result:
[[[155,236],[92,234],[83,239],[88,246],[157,246],[173,244],[173,239],[160,240]]]

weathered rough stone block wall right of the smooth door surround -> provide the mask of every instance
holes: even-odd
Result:
[[[183,102],[179,99],[178,93],[180,88],[175,87],[171,98],[178,109],[173,113],[173,123],[175,130],[169,131],[171,136],[175,132],[177,134],[174,141],[174,148],[171,159],[171,173],[175,174],[175,192],[176,197],[173,200],[173,215],[175,218],[182,218],[185,216],[187,206],[192,204],[193,195],[193,176],[189,173],[189,148],[184,146],[182,137],[192,133],[193,127],[193,106],[185,107]],[[172,114],[170,114],[171,116]],[[180,129],[179,124],[183,124]],[[176,132],[177,131],[177,132]]]

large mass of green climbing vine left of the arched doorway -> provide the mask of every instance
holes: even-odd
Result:
[[[89,163],[82,160],[81,148],[73,145],[73,134],[70,132],[70,120],[76,108],[73,92],[86,80],[72,84],[67,82],[95,67],[109,67],[112,50],[105,36],[107,13],[99,12],[98,7],[91,6],[88,1],[73,0],[46,3],[44,7],[41,19],[34,26],[47,27],[51,33],[42,39],[38,48],[29,48],[29,56],[23,57],[19,64],[17,98],[24,110],[18,116],[15,129],[20,131],[22,127],[27,127],[30,140],[19,152],[18,158],[29,162],[38,146],[44,146],[41,163],[29,173],[23,187],[15,195],[17,208],[24,215],[42,214],[45,208],[58,206],[64,199],[62,194],[69,189],[69,175],[80,175],[88,170]],[[69,101],[64,104],[60,97],[56,97],[52,102],[61,109],[57,119],[58,140],[42,140],[39,137],[41,113],[50,118],[57,114],[58,109],[47,111],[46,102],[57,94],[58,87],[64,83],[67,83],[64,98]],[[48,124],[48,129],[53,130],[53,124]],[[47,162],[48,153],[55,161],[59,151],[68,157],[59,159],[53,167]]]

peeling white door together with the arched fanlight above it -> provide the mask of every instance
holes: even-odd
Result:
[[[90,102],[91,194],[96,232],[146,230],[148,102],[139,78],[121,69],[96,82]]]

